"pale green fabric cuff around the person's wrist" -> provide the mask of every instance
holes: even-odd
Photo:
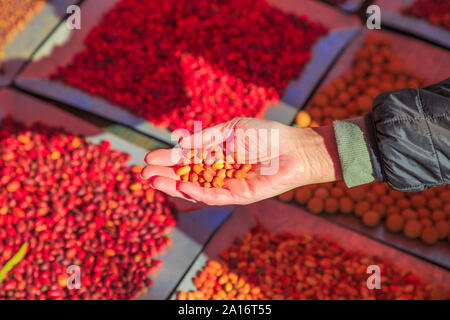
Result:
[[[364,118],[334,121],[333,128],[347,187],[373,182],[377,174],[372,165],[372,157],[376,162],[376,156],[367,139]]]

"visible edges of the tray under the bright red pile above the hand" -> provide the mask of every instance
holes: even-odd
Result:
[[[70,63],[74,55],[83,49],[84,39],[90,30],[98,25],[102,16],[118,1],[84,1],[81,5],[81,30],[68,30],[61,23],[52,36],[33,55],[31,63],[18,76],[15,83],[20,88],[97,114],[163,142],[173,144],[168,130],[158,128],[102,97],[93,96],[86,91],[49,79],[49,75],[55,72],[58,66]],[[307,101],[336,56],[356,35],[361,25],[356,17],[345,15],[317,1],[304,0],[299,3],[293,0],[270,0],[269,2],[287,12],[307,15],[312,21],[323,23],[331,29],[327,36],[316,43],[312,59],[300,77],[293,80],[286,88],[279,105],[270,106],[266,112],[267,119],[288,124],[294,119],[298,107]]]

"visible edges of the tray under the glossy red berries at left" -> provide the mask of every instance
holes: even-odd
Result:
[[[6,115],[11,115],[24,123],[39,121],[64,127],[71,133],[86,136],[88,141],[94,143],[109,140],[114,149],[131,155],[130,164],[143,164],[147,153],[147,150],[110,132],[12,89],[0,90],[0,119]],[[169,234],[172,245],[156,257],[163,261],[163,266],[152,275],[153,286],[139,299],[167,299],[186,269],[202,251],[207,240],[233,209],[230,206],[196,209],[196,205],[187,201],[177,199],[171,201],[179,211],[178,224]]]

